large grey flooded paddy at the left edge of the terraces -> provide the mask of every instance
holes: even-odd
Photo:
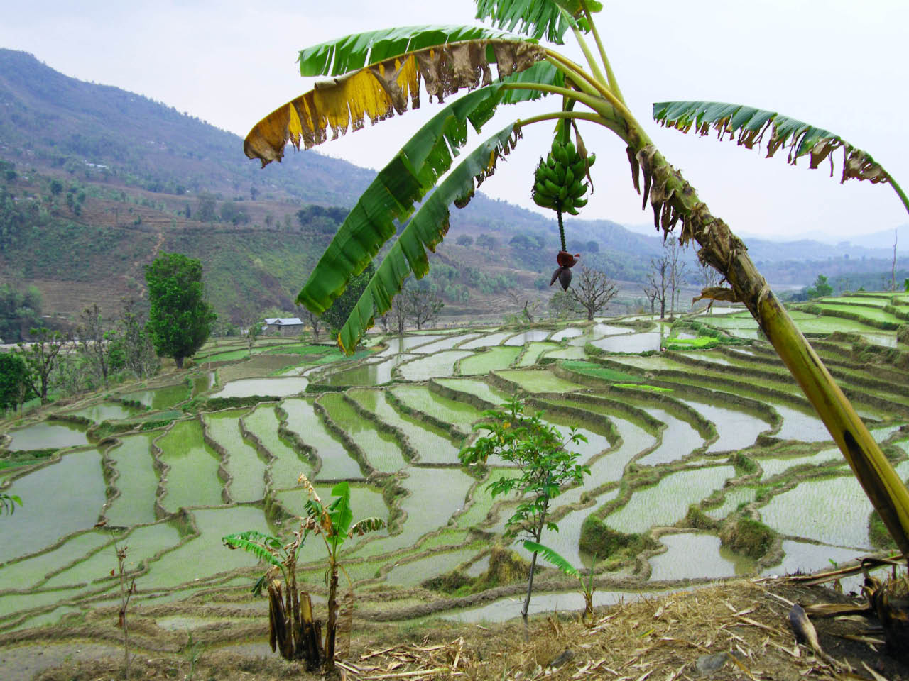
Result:
[[[97,522],[105,504],[101,452],[83,449],[13,481],[5,490],[22,498],[12,521],[0,523],[0,547],[9,560],[54,544]]]

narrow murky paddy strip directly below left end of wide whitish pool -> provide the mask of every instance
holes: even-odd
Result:
[[[208,434],[227,451],[225,469],[231,475],[228,491],[239,502],[265,497],[265,459],[243,439],[240,431],[240,417],[247,411],[218,411],[204,417]]]

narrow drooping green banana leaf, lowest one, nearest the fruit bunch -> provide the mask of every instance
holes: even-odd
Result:
[[[474,178],[482,181],[493,173],[496,160],[514,146],[514,132],[514,123],[511,123],[480,144],[439,184],[416,212],[376,268],[373,278],[366,284],[365,291],[338,333],[338,345],[346,354],[354,352],[363,334],[375,324],[376,315],[381,316],[391,308],[392,298],[404,288],[404,281],[411,272],[420,279],[429,271],[426,251],[435,252],[435,246],[448,232],[448,206],[454,202],[463,208],[470,201],[474,194]],[[326,251],[319,264],[328,257]]]

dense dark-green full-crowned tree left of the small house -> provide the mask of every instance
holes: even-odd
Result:
[[[183,253],[161,253],[145,265],[145,283],[151,309],[145,330],[155,350],[173,357],[177,369],[202,347],[217,319],[205,301],[202,262]]]

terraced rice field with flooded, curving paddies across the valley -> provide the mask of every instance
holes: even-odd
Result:
[[[860,311],[868,320],[893,317],[884,311],[893,302],[889,297],[871,300],[846,297],[822,306]],[[814,334],[895,337],[860,320],[808,312],[794,318]],[[15,585],[0,589],[0,631],[86,617],[112,605],[114,540],[129,547],[137,617],[155,605],[155,617],[164,622],[161,613],[170,604],[207,590],[223,602],[244,602],[262,566],[248,554],[225,550],[221,537],[255,529],[286,538],[297,527],[295,517],[305,513],[300,473],[315,477],[324,498],[336,480],[350,480],[355,517],[389,521],[373,537],[352,539],[345,557],[358,590],[388,590],[383,608],[394,618],[397,609],[432,598],[426,590],[414,597],[414,587],[426,579],[453,570],[479,577],[488,549],[508,543],[502,535],[515,498],[492,498],[486,486],[516,470],[490,460],[489,469],[474,477],[460,466],[458,452],[475,437],[482,411],[503,404],[514,390],[529,395],[546,422],[563,432],[576,426],[586,438],[574,449],[591,475],[554,499],[561,531],[544,534],[544,543],[589,567],[591,557],[579,540],[592,514],[625,533],[659,530],[651,546],[660,550],[647,558],[610,568],[598,561],[607,582],[622,579],[627,586],[636,579],[644,589],[648,581],[679,585],[824,568],[828,558],[842,561],[872,548],[870,504],[820,421],[787,397],[799,393],[772,350],[756,340],[754,321],[740,311],[695,321],[754,344],[654,354],[670,333],[694,338],[698,331],[655,322],[635,331],[611,320],[530,330],[433,330],[370,342],[377,351],[343,362],[333,361],[337,355],[326,347],[321,363],[292,366],[282,378],[269,376],[274,367],[267,363],[262,375],[246,372],[255,370],[250,362],[258,358],[246,360],[240,343],[222,344],[206,359],[235,364],[115,396],[141,408],[86,400],[65,412],[78,423],[6,427],[0,480],[23,506],[0,522],[0,584]],[[597,356],[588,356],[588,342]],[[882,379],[850,359],[852,342],[841,338],[821,347],[850,390],[866,390],[877,400],[859,411],[907,476],[909,439],[899,426],[907,420],[901,396],[909,386],[894,373],[886,385],[862,388]],[[313,346],[297,345],[312,352]],[[294,348],[275,342],[256,352]],[[303,371],[305,376],[296,375]],[[270,401],[257,403],[256,395]],[[212,398],[231,401],[213,401],[206,409]],[[225,403],[240,406],[217,409]],[[99,442],[102,422],[105,434],[111,424],[115,428]],[[141,429],[143,423],[148,429]],[[717,522],[741,514],[760,518],[775,533],[782,562],[735,554],[715,529],[685,528],[692,505]],[[95,528],[99,520],[106,526]],[[322,578],[323,550],[313,541],[301,553],[302,574],[314,583]],[[627,592],[607,588],[602,598],[620,593]],[[538,594],[534,607],[571,598]],[[446,617],[516,612],[496,601]]]

